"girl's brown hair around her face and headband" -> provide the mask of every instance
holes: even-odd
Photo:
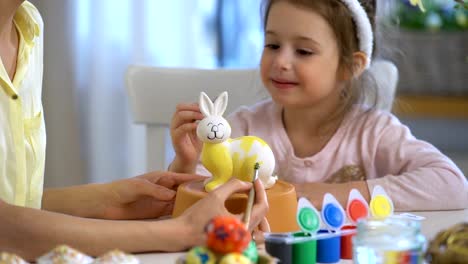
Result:
[[[350,76],[353,76],[353,72],[355,71],[353,53],[359,51],[359,40],[357,37],[356,25],[346,5],[340,0],[264,0],[262,3],[264,29],[266,29],[271,6],[280,1],[313,10],[328,22],[337,41],[340,71],[347,72]],[[375,32],[376,0],[359,0],[359,2],[366,11],[371,22],[372,30]],[[372,54],[375,54],[375,38],[373,47]],[[369,59],[372,60],[373,58]],[[372,85],[364,85],[364,82],[371,82]],[[364,102],[366,97],[371,98],[370,107],[375,108],[378,98],[377,85],[372,75],[364,72],[359,80],[352,79],[349,81],[347,89],[342,93],[342,104],[332,115],[331,119],[341,117],[348,112],[354,104]]]

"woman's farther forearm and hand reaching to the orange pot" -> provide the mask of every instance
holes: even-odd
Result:
[[[43,208],[81,217],[147,219],[169,215],[177,187],[203,176],[150,172],[105,184],[47,190]]]

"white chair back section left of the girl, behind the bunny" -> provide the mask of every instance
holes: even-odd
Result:
[[[227,91],[227,115],[265,98],[257,69],[130,66],[126,87],[134,121],[146,126],[147,170],[166,169],[173,158],[168,128],[177,104],[197,102],[202,91],[212,99]]]

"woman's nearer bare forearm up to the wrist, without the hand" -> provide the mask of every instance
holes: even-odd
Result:
[[[59,244],[90,255],[182,250],[191,244],[179,220],[110,221],[23,208],[0,201],[0,248],[33,260]],[[183,238],[183,239],[180,239]]]

